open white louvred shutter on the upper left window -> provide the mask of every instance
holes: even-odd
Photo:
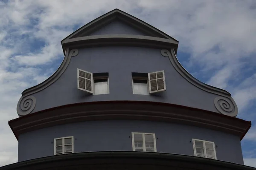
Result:
[[[90,94],[93,94],[93,74],[77,69],[77,88],[82,91],[87,91]]]

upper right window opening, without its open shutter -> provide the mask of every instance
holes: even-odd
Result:
[[[148,78],[133,78],[133,94],[148,95]]]

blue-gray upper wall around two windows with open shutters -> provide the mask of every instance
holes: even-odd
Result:
[[[110,94],[88,95],[77,89],[77,68],[92,73],[109,73]],[[165,71],[166,91],[151,95],[132,92],[132,72]],[[46,89],[33,94],[36,106],[32,113],[78,102],[139,100],[173,103],[217,112],[217,95],[203,91],[184,79],[160,49],[140,47],[95,47],[79,49],[62,76]]]

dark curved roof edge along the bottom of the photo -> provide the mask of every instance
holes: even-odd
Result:
[[[256,170],[241,164],[169,153],[106,151],[22,161],[0,170]]]

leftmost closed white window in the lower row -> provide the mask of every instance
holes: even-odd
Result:
[[[54,139],[54,155],[74,152],[73,136]]]

